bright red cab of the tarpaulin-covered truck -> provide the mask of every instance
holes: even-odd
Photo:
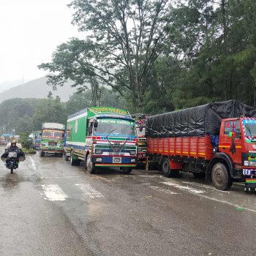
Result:
[[[228,165],[233,179],[245,177],[245,189],[254,189],[256,187],[256,118],[223,119],[216,155],[230,162]]]

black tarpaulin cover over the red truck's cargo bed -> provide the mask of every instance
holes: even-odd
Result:
[[[243,114],[256,117],[256,108],[231,99],[150,116],[147,120],[148,137],[218,135],[223,118],[236,118]]]

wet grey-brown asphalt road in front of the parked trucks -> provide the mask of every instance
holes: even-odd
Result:
[[[255,255],[256,195],[58,157],[0,165],[0,255]]]

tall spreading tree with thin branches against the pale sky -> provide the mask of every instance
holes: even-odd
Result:
[[[169,0],[75,0],[73,23],[86,31],[86,40],[71,39],[39,68],[59,72],[49,76],[53,86],[67,79],[84,86],[89,78],[111,86],[132,99],[132,108],[143,108],[147,77],[165,50]]]

